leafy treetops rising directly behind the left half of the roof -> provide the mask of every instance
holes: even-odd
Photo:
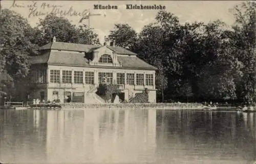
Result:
[[[87,25],[76,27],[67,18],[54,14],[39,20],[38,26],[34,28],[34,35],[33,42],[39,46],[49,43],[54,36],[59,42],[99,44],[98,35],[88,29]]]

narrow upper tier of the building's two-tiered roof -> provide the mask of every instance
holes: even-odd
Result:
[[[77,43],[66,43],[66,42],[50,42],[43,45],[39,50],[65,50],[65,51],[81,51],[81,52],[92,52],[95,49],[101,48],[104,45],[90,45],[90,44],[77,44]],[[137,55],[129,50],[121,48],[120,46],[109,46],[109,49],[113,50],[117,54],[125,55]]]

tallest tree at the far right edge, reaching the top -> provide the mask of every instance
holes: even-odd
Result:
[[[236,54],[244,66],[238,94],[242,101],[252,103],[256,102],[256,3],[248,1],[234,7],[234,17],[233,40]]]

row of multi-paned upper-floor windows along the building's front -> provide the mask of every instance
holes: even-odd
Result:
[[[135,78],[136,76],[136,78]],[[62,71],[62,83],[72,83],[72,71]],[[85,72],[84,74],[84,83],[85,84],[94,84],[94,72]],[[126,74],[126,84],[128,85],[145,85],[153,86],[154,79],[153,74]],[[60,82],[60,70],[51,70],[50,71],[50,82],[59,83]],[[113,82],[113,73],[99,72],[98,74],[99,83],[108,83],[112,84]],[[116,74],[116,83],[124,84],[125,75],[124,73]],[[74,71],[74,83],[82,84],[83,83],[83,72]]]

